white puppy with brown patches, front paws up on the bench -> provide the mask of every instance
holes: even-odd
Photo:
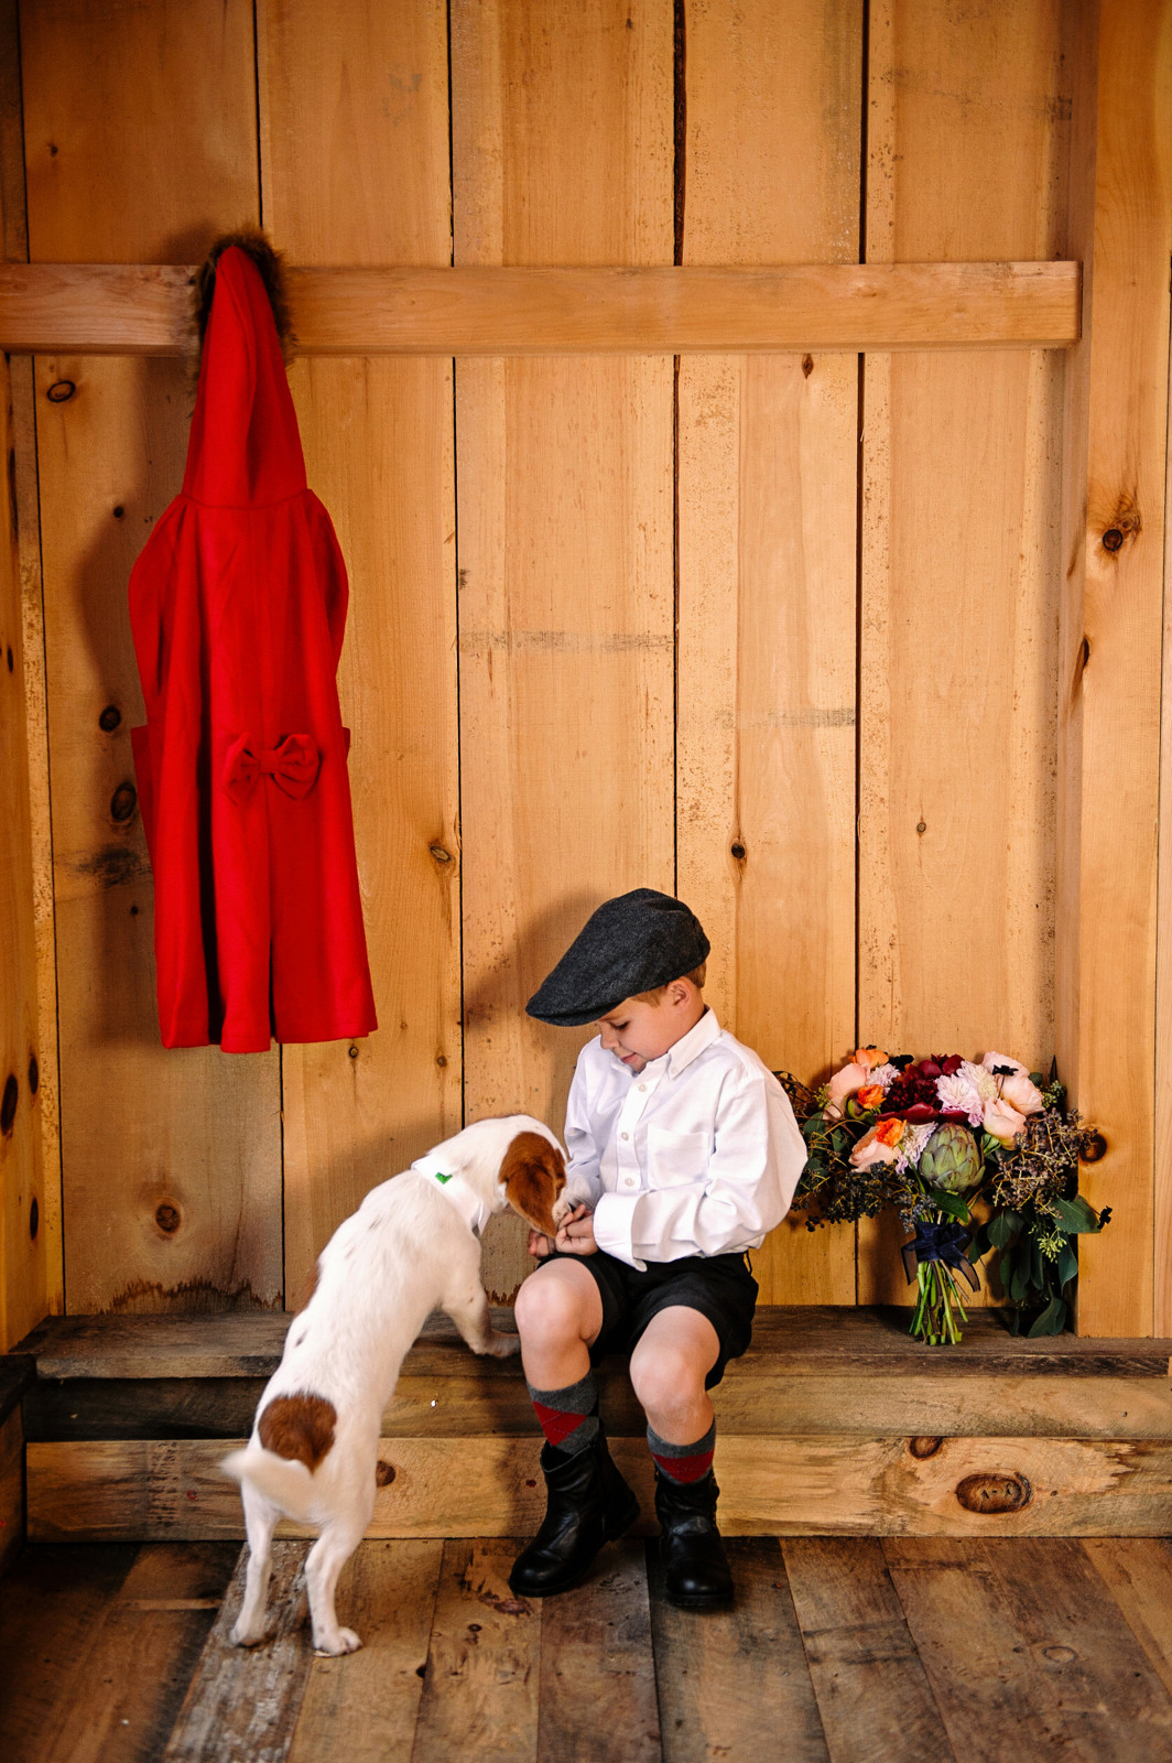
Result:
[[[539,1120],[509,1114],[465,1127],[411,1169],[372,1188],[317,1261],[317,1285],[289,1324],[286,1350],[257,1407],[252,1439],[224,1460],[240,1481],[248,1574],[233,1640],[264,1640],[270,1544],[286,1514],[321,1534],[305,1562],[314,1647],[361,1645],[333,1610],[338,1574],[374,1513],[382,1410],[398,1366],[434,1308],[472,1352],[516,1352],[499,1335],[479,1282],[479,1231],[513,1206],[553,1234],[571,1211],[566,1158]]]

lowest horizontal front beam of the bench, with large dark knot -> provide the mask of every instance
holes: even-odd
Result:
[[[28,1446],[33,1543],[240,1537],[236,1440]],[[243,1444],[243,1440],[238,1440]],[[612,1439],[654,1529],[645,1437]],[[541,1437],[384,1439],[370,1537],[532,1536]],[[717,1435],[730,1536],[1167,1536],[1172,1444],[1154,1439]],[[278,1536],[307,1536],[282,1523]]]

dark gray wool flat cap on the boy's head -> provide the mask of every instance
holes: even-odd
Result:
[[[590,913],[525,1010],[539,1023],[580,1028],[624,998],[691,973],[710,947],[682,899],[636,887]]]

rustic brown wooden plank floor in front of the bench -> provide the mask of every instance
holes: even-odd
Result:
[[[0,1588],[0,1756],[1172,1759],[1167,1541],[740,1537],[721,1617],[664,1603],[654,1544],[545,1606],[511,1597],[513,1553],[365,1543],[338,1599],[365,1647],[315,1659],[303,1543],[256,1652],[222,1640],[234,1544],[32,1546]]]

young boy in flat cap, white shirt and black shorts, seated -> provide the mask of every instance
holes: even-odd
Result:
[[[582,1195],[516,1298],[522,1361],[546,1444],[548,1506],[513,1564],[543,1597],[585,1576],[638,1518],[597,1417],[592,1363],[631,1352],[647,1412],[668,1597],[730,1603],[716,1527],[708,1391],[749,1345],[756,1282],[744,1259],[793,1199],[805,1146],[777,1079],[705,1007],[708,938],[687,906],[634,889],[587,920],[527,1010],[597,1021],[566,1107],[567,1192]]]

